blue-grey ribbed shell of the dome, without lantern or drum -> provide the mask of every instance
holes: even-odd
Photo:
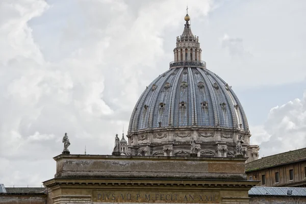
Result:
[[[231,87],[215,73],[199,67],[173,68],[159,75],[140,96],[129,133],[180,126],[249,130]]]

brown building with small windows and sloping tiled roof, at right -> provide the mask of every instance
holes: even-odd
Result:
[[[249,162],[245,170],[258,186],[306,187],[306,148]]]

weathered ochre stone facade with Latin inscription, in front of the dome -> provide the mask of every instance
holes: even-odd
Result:
[[[249,203],[244,158],[60,155],[48,204]]]

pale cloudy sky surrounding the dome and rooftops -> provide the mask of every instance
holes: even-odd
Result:
[[[0,183],[41,185],[71,154],[111,154],[173,61],[186,5],[202,60],[232,86],[260,157],[306,147],[306,1],[0,1]]]

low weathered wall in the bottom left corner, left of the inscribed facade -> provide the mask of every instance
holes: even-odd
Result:
[[[47,204],[47,195],[0,194],[0,204]]]

